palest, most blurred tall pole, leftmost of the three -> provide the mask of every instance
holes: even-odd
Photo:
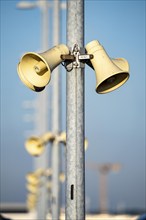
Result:
[[[48,18],[48,0],[41,1],[39,0],[39,7],[41,10],[41,16],[42,16],[42,51],[46,51],[49,47],[49,18]],[[49,115],[50,112],[48,113],[48,104],[50,102],[49,100],[49,95],[48,95],[48,90],[50,91],[51,88],[46,88],[44,91],[41,93],[37,94],[37,100],[38,100],[38,105],[37,105],[37,121],[36,121],[36,128],[38,131],[38,135],[42,135],[46,133],[49,128]],[[42,168],[46,170],[48,168],[48,152],[49,149],[48,147],[45,148],[45,152],[36,160],[36,167],[37,168]],[[43,185],[40,186],[39,192],[39,200],[37,204],[37,219],[46,219],[47,213],[48,213],[48,189],[47,189],[47,181],[48,178],[47,176],[43,176],[42,178]]]

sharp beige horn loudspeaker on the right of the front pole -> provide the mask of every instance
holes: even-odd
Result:
[[[97,40],[86,45],[88,54],[93,55],[92,66],[96,74],[96,92],[107,93],[122,86],[129,78],[129,64],[124,58],[110,59]]]

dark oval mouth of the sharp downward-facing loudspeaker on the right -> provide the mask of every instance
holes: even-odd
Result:
[[[105,94],[122,86],[129,78],[128,72],[117,73],[105,79],[96,87],[96,92]]]

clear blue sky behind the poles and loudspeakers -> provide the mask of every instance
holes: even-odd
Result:
[[[1,200],[24,202],[25,175],[33,162],[24,148],[25,132],[34,124],[23,118],[33,110],[22,107],[37,94],[17,75],[17,63],[27,51],[41,48],[39,9],[16,9],[18,1],[1,0]],[[110,57],[124,57],[130,79],[105,95],[95,92],[95,74],[85,67],[85,134],[89,141],[86,161],[121,164],[108,176],[109,208],[145,206],[145,1],[85,1],[85,45],[99,40]],[[62,11],[61,40],[66,43],[66,12]],[[52,45],[49,11],[49,46]],[[62,130],[65,129],[66,73],[62,67]],[[32,131],[33,134],[33,131]],[[86,170],[86,196],[99,207],[99,178]]]

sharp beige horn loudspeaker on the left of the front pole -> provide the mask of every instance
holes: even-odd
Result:
[[[51,72],[62,62],[62,54],[69,54],[69,49],[64,44],[43,53],[24,54],[17,68],[21,81],[36,92],[42,91],[50,82]]]

